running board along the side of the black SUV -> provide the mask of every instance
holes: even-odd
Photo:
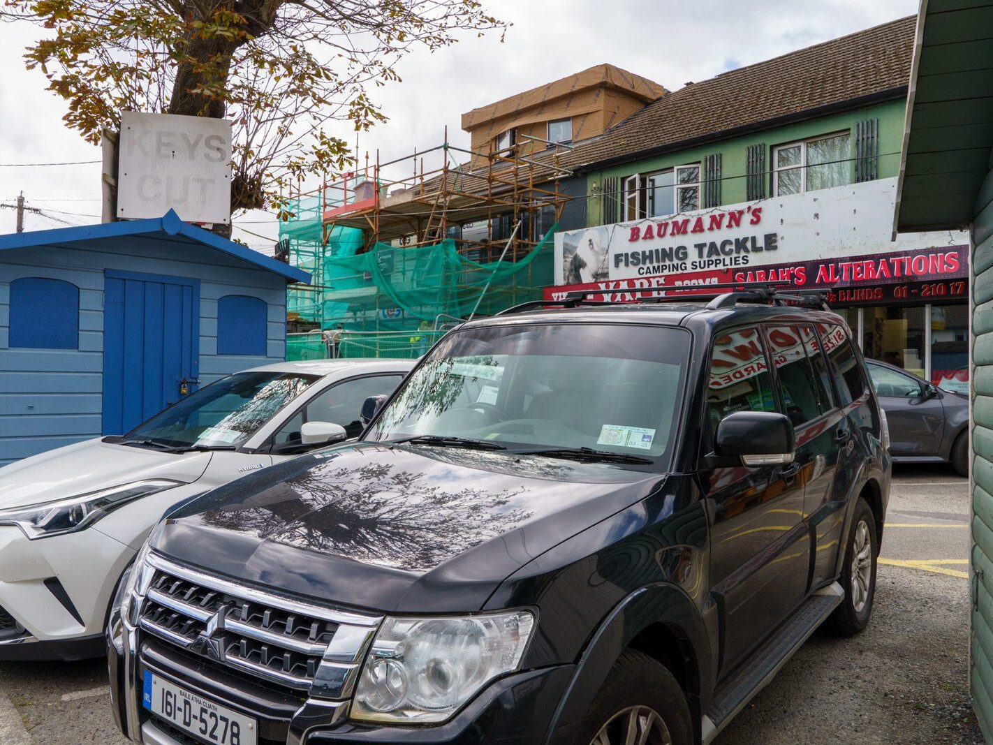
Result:
[[[709,745],[760,690],[766,687],[803,646],[811,634],[834,611],[845,597],[841,585],[834,582],[817,590],[780,627],[776,635],[762,645],[752,657],[715,691],[710,709],[703,717],[701,739]]]

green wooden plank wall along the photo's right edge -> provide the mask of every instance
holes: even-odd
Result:
[[[993,172],[973,223],[972,250],[972,703],[993,736]]]

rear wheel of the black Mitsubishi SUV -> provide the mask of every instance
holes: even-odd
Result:
[[[845,597],[828,619],[830,628],[836,634],[854,636],[869,625],[873,599],[876,597],[878,554],[876,518],[869,504],[859,497],[841,567],[840,582]]]

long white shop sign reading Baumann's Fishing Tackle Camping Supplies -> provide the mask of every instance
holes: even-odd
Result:
[[[709,276],[726,278],[712,281],[730,281],[732,272],[756,273],[772,265],[967,244],[965,233],[948,232],[902,234],[893,241],[896,187],[896,179],[881,179],[667,218],[559,232],[555,235],[556,281],[584,286],[633,279],[668,285]],[[881,282],[898,278],[898,271],[902,276],[908,274],[898,266],[839,264],[833,271],[839,272],[839,282],[847,281],[847,271],[876,271]],[[666,277],[673,279],[660,281]]]

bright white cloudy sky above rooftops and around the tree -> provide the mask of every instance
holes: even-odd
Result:
[[[506,41],[467,34],[451,48],[405,58],[402,82],[372,90],[389,121],[361,135],[360,151],[379,148],[385,160],[426,149],[442,142],[446,124],[449,139],[468,146],[459,129],[464,111],[601,63],[671,90],[918,10],[917,0],[483,2],[513,24]],[[44,90],[43,74],[24,69],[24,46],[37,33],[29,24],[0,24],[0,204],[23,190],[29,206],[45,212],[26,218],[29,230],[99,222],[98,164],[9,165],[99,158],[98,148],[63,125],[66,105]],[[339,134],[355,137],[344,127]],[[235,227],[236,237],[271,253],[273,218],[252,213]],[[0,209],[0,233],[13,230],[13,211]]]

